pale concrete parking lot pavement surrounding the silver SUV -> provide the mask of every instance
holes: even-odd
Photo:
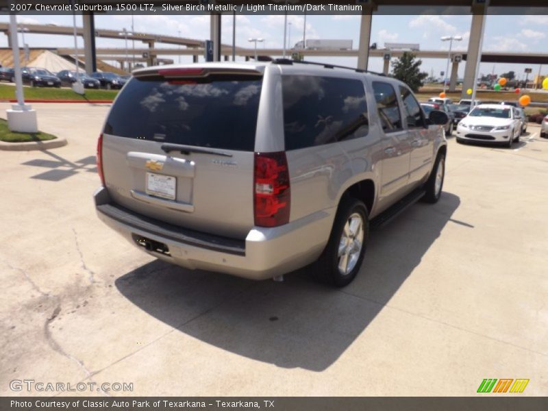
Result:
[[[34,379],[127,382],[139,396],[466,396],[484,378],[530,379],[521,395],[547,395],[538,125],[513,149],[449,138],[440,201],[373,232],[362,271],[336,290],[305,271],[252,282],[132,247],[92,201],[109,106],[33,106],[69,145],[0,152],[2,395]]]

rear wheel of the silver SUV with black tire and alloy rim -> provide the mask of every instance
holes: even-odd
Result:
[[[314,279],[336,287],[350,284],[362,266],[368,237],[369,214],[364,203],[353,197],[343,197],[329,241],[311,266]]]

